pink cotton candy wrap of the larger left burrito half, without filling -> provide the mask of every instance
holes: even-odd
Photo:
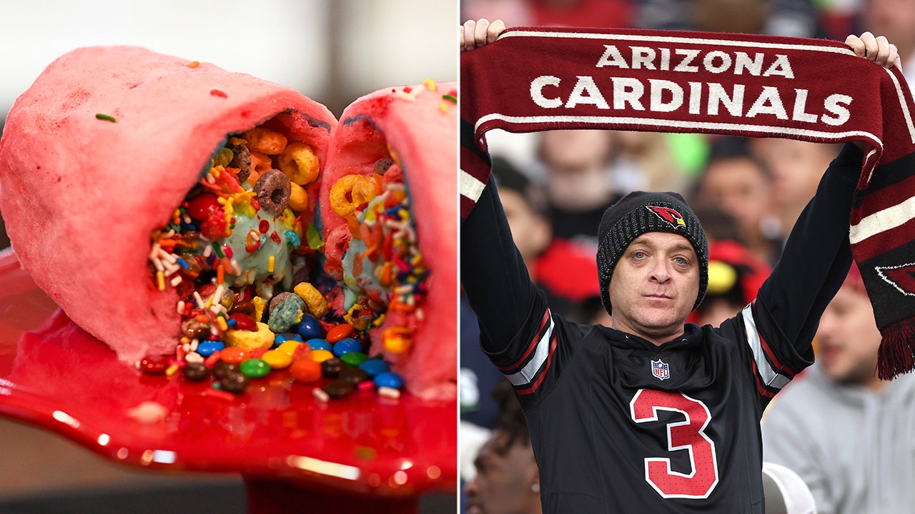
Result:
[[[145,48],[74,50],[16,100],[0,140],[0,211],[20,262],[125,362],[174,352],[178,294],[156,289],[150,234],[227,134],[283,112],[323,163],[336,125],[290,88],[189,64]]]

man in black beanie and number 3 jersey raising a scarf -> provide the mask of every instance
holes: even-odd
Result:
[[[502,28],[468,22],[461,48],[492,43]],[[885,68],[897,59],[884,37],[865,33],[846,44]],[[465,84],[475,79],[462,69],[462,102],[474,102]],[[488,159],[474,122],[462,120],[462,176]],[[544,512],[764,511],[759,419],[813,362],[817,322],[848,273],[863,146],[845,145],[756,301],[721,327],[684,325],[705,294],[708,250],[680,195],[635,192],[604,214],[597,268],[613,323],[603,327],[550,312],[492,181],[472,193],[461,280],[482,348],[522,404]]]

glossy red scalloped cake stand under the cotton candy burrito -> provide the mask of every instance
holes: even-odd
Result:
[[[0,252],[0,415],[130,465],[241,473],[252,512],[324,512],[315,500],[331,498],[328,512],[401,513],[424,492],[457,492],[456,401],[318,402],[285,371],[231,401],[208,389],[124,365]],[[129,416],[142,402],[165,406],[165,420]]]

